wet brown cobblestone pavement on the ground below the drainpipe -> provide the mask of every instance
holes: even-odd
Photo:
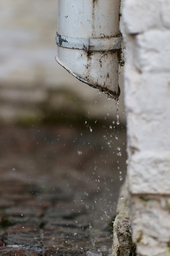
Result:
[[[0,128],[0,256],[110,254],[126,169],[117,127]]]

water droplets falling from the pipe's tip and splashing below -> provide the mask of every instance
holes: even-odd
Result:
[[[100,97],[100,92],[99,92],[99,97]],[[108,97],[108,100],[110,100],[110,97]],[[116,118],[117,121],[115,122],[114,120],[112,121],[112,124],[110,124],[109,128],[111,131],[110,134],[108,134],[107,136],[104,135],[103,137],[106,139],[106,144],[108,145],[108,147],[110,148],[110,155],[114,154],[115,152],[112,152],[113,147],[114,147],[114,140],[113,140],[113,135],[115,135],[115,140],[119,140],[119,132],[115,132],[115,123],[117,125],[119,125],[119,99],[115,100],[115,105],[116,105]],[[97,120],[96,120],[97,121]],[[87,124],[88,122],[85,121],[85,124]],[[90,132],[93,132],[93,129],[91,126],[89,126],[89,130]],[[110,138],[108,138],[110,137]],[[119,144],[119,143],[118,143]],[[120,160],[119,157],[121,157],[121,146],[117,144],[117,147],[115,149],[116,151],[116,155],[118,157],[117,160],[117,170],[119,171],[119,181],[121,182],[123,180],[123,176],[122,176],[122,170],[120,169]],[[94,170],[96,170],[97,166],[95,166]],[[106,164],[106,168],[107,168],[107,164]],[[113,173],[114,176],[114,173]],[[113,180],[113,177],[110,176],[110,180]],[[100,176],[98,176],[98,179],[96,179],[96,182],[100,182]],[[113,183],[114,184],[114,183]],[[106,187],[107,187],[107,183],[106,183]],[[100,185],[98,186],[98,189],[100,190]],[[110,194],[111,195],[111,194]],[[114,197],[114,195],[112,195]],[[123,198],[123,195],[120,196],[121,199]],[[104,227],[106,228],[106,225],[108,222],[111,222],[111,225],[113,225],[113,208],[111,207],[111,204],[115,204],[115,208],[116,208],[116,202],[113,202],[112,200],[110,200],[109,202],[106,201],[102,201],[100,199],[96,199],[94,200],[95,202],[95,211],[97,211],[97,209],[99,210],[99,215],[96,215],[95,218],[94,216],[91,215],[91,220],[94,223],[93,225],[91,225],[91,223],[89,223],[89,229],[91,230],[91,244],[93,245],[93,250],[89,250],[86,252],[86,256],[111,256],[111,243],[112,243],[112,236],[110,236],[110,248],[107,248],[107,254],[103,254],[104,253],[104,243],[105,243],[105,238],[108,236],[109,234],[106,232],[106,230],[104,229]],[[110,204],[110,205],[109,205]],[[86,209],[89,209],[89,205],[86,205]],[[94,210],[94,208],[92,207],[92,210]],[[94,211],[92,211],[94,213]],[[92,213],[92,214],[93,214]],[[102,239],[103,239],[103,245],[101,243],[101,247],[97,247],[97,238],[99,238],[101,236],[101,230],[99,230],[99,227],[101,228],[103,225],[103,230],[102,230]],[[110,227],[110,230],[112,229],[112,227]],[[105,231],[104,231],[105,230]],[[104,238],[105,237],[105,238]],[[106,248],[105,248],[106,250]]]

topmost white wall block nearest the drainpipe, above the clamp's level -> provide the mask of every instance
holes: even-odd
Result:
[[[161,0],[124,0],[122,14],[126,33],[137,34],[157,27]]]

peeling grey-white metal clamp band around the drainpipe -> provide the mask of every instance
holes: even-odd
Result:
[[[84,49],[87,52],[108,52],[120,49],[122,37],[79,38],[61,36],[56,33],[56,44],[71,49]]]

